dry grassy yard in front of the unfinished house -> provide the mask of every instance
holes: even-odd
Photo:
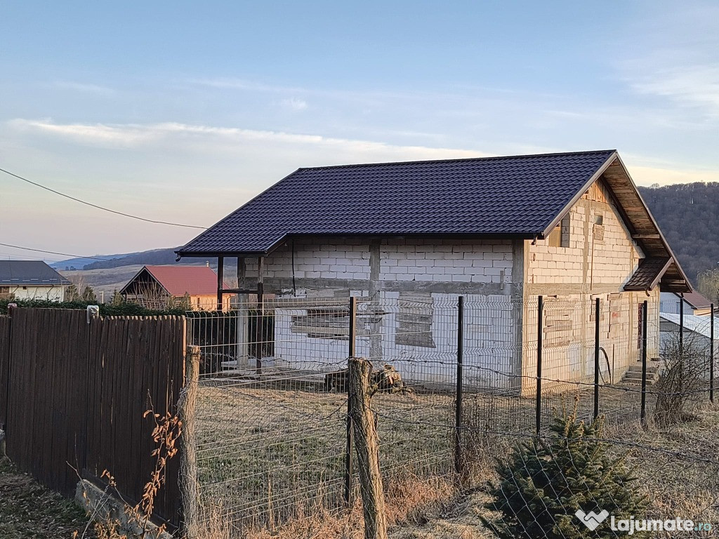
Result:
[[[641,488],[651,492],[662,513],[682,509],[716,517],[715,508],[706,501],[711,488],[719,492],[717,475],[707,474],[706,463],[680,459],[672,451],[717,444],[719,415],[715,410],[705,410],[706,418],[700,421],[667,432],[654,429],[647,433],[638,423],[639,397],[638,392],[626,387],[603,388],[600,409],[607,415],[606,436],[618,441],[612,451],[628,452],[628,461],[636,466],[638,475],[646,474]],[[588,420],[592,414],[591,390],[583,390],[579,398],[580,414]],[[574,392],[545,397],[543,423],[573,399]],[[426,516],[396,518],[404,526],[395,528],[395,534],[408,530],[420,533],[422,526],[418,528],[414,521],[424,520],[449,528],[450,524],[461,527],[474,522],[478,530],[477,515],[483,511],[486,496],[476,487],[492,479],[495,457],[505,455],[516,441],[533,433],[536,408],[531,398],[470,392],[464,395],[463,404],[469,430],[464,433],[462,451],[470,477],[465,478],[461,493],[454,476],[454,394],[418,390],[373,397],[388,497],[406,491],[408,484],[413,492],[426,492],[424,484],[441,494],[422,498],[423,503],[431,501],[424,508]],[[651,405],[650,397],[650,419]],[[325,391],[317,380],[276,377],[263,382],[201,382],[197,415],[201,500],[207,508],[219,510],[222,520],[241,527],[276,529],[309,508],[315,513],[321,508],[337,514],[332,511],[344,506],[346,407],[344,393]],[[701,443],[695,443],[695,437]],[[654,448],[658,441],[669,451],[637,446]],[[712,447],[715,453],[706,454],[718,454]],[[690,474],[683,487],[670,482],[680,473]],[[407,505],[408,493],[400,494],[393,503]]]

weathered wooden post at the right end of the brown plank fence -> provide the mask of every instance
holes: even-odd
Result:
[[[197,479],[197,433],[195,430],[195,406],[197,384],[200,375],[200,347],[188,346],[185,357],[185,387],[178,402],[182,421],[180,436],[180,500],[182,507],[183,537],[196,539],[199,525],[199,484]]]

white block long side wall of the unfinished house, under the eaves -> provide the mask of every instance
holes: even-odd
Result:
[[[363,290],[353,295],[369,295],[370,244],[354,240],[319,239],[296,243],[295,277],[363,280]],[[511,241],[414,240],[389,239],[380,244],[379,285],[383,282],[475,283],[504,285],[509,294],[512,282]],[[266,278],[292,277],[290,247],[278,249],[265,262]],[[248,265],[248,275],[256,266]],[[521,275],[519,276],[521,278]],[[419,287],[418,287],[419,288]],[[304,290],[308,297],[331,295],[327,290]],[[400,292],[380,292],[378,301],[384,314],[380,322],[359,332],[357,354],[372,357],[380,341],[381,353],[372,359],[377,364],[390,363],[403,377],[416,382],[454,384],[457,358],[457,293],[433,293],[432,340],[435,347],[408,346],[395,342],[400,312]],[[465,296],[465,380],[475,387],[510,387],[516,382],[508,376],[516,369],[521,348],[516,343],[515,315],[509,295],[466,294]],[[337,361],[347,358],[347,341],[309,338],[291,331],[297,309],[275,311],[275,361],[297,369],[336,368]],[[362,305],[358,320],[362,326]],[[364,326],[362,326],[364,327]],[[365,333],[364,335],[362,333]],[[367,333],[381,336],[373,339]]]

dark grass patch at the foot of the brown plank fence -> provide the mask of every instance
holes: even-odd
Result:
[[[0,459],[1,538],[70,538],[86,522],[85,512],[73,500],[42,487],[10,461]]]

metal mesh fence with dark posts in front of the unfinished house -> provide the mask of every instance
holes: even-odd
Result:
[[[371,407],[390,505],[413,485],[448,496],[478,488],[518,443],[556,437],[551,424],[568,408],[586,424],[601,415],[615,441],[636,438],[641,420],[667,407],[691,412],[709,390],[707,341],[688,331],[681,343],[660,338],[658,301],[646,315],[642,307],[636,296],[603,296],[597,317],[593,298],[545,297],[540,308],[536,297],[384,293],[354,304],[289,298],[191,313],[188,344],[201,358],[200,513],[239,537],[352,507],[352,352],[375,372]],[[645,453],[630,457],[646,465]]]

